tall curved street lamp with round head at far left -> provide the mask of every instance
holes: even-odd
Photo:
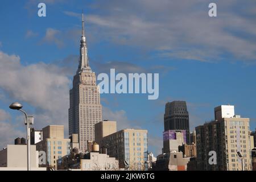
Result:
[[[30,167],[30,123],[28,123],[27,113],[24,110],[22,110],[23,106],[21,104],[19,104],[18,102],[13,102],[13,104],[11,104],[9,107],[10,107],[10,109],[19,110],[23,114],[25,114],[25,117],[26,117],[25,125],[27,125],[27,171],[31,171],[31,167]]]

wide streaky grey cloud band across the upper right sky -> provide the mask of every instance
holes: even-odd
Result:
[[[217,18],[205,0],[97,1],[85,16],[100,40],[159,51],[174,59],[220,61],[223,55],[251,63],[256,59],[256,2],[217,1]],[[97,13],[100,12],[100,13]],[[65,13],[74,16],[76,13]]]

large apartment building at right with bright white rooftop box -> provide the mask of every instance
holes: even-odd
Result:
[[[232,109],[234,106],[218,106],[215,121],[196,127],[199,170],[241,171],[242,162],[237,152],[243,156],[245,170],[251,170],[250,152],[254,142],[250,136],[250,119],[233,115]],[[229,118],[222,118],[228,115]],[[208,162],[210,151],[216,151],[216,165]]]

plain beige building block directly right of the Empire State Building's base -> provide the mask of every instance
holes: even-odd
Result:
[[[110,134],[117,132],[117,122],[104,120],[96,123],[94,128],[95,128],[95,142],[100,144],[101,139],[103,137],[106,137]]]

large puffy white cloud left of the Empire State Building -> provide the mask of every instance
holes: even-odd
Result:
[[[67,133],[69,107],[69,80],[67,73],[56,65],[20,64],[16,55],[0,52],[0,89],[12,100],[34,107],[35,127],[55,123],[64,125]],[[26,108],[24,108],[26,109]]]

